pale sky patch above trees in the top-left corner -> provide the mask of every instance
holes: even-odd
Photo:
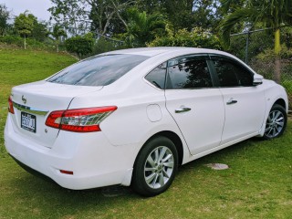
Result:
[[[19,16],[28,10],[38,20],[46,21],[50,16],[47,9],[52,6],[50,0],[0,0],[0,4],[5,4],[9,11],[13,11],[13,16]]]

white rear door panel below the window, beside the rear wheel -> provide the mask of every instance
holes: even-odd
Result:
[[[172,114],[192,154],[217,147],[224,127],[224,104],[219,89],[165,90]],[[182,108],[191,110],[177,113]]]

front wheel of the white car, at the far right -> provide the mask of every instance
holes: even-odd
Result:
[[[283,134],[287,126],[287,111],[280,105],[275,104],[266,119],[266,128],[263,138],[275,139]]]

